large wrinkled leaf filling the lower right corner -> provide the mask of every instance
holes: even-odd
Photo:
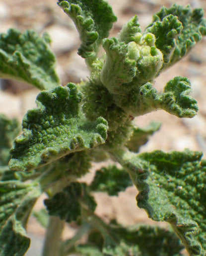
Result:
[[[139,193],[137,205],[166,221],[191,255],[206,254],[206,161],[201,152],[126,151],[119,159]]]

